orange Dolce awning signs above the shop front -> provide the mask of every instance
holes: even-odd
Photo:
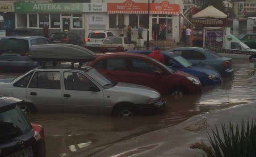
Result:
[[[147,9],[147,3],[135,3],[132,0],[126,0],[124,3],[108,3],[109,14],[147,14]],[[170,4],[168,1],[150,4],[150,14],[179,15],[179,13],[178,4]]]

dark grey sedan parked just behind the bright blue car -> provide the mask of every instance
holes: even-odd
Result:
[[[177,55],[182,56],[196,66],[213,68],[222,76],[232,76],[234,73],[231,58],[222,57],[205,48],[181,47],[173,48],[169,50],[169,52],[174,52]]]

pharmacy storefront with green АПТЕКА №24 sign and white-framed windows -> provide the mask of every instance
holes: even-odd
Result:
[[[15,28],[36,28],[42,31],[44,24],[49,34],[57,31],[73,31],[84,37],[83,3],[15,3]]]

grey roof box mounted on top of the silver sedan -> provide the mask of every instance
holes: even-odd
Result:
[[[29,56],[34,61],[87,62],[95,60],[96,54],[73,44],[32,45]]]

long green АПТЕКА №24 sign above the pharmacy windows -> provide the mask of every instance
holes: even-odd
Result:
[[[14,10],[15,12],[83,12],[83,4],[16,2]]]

